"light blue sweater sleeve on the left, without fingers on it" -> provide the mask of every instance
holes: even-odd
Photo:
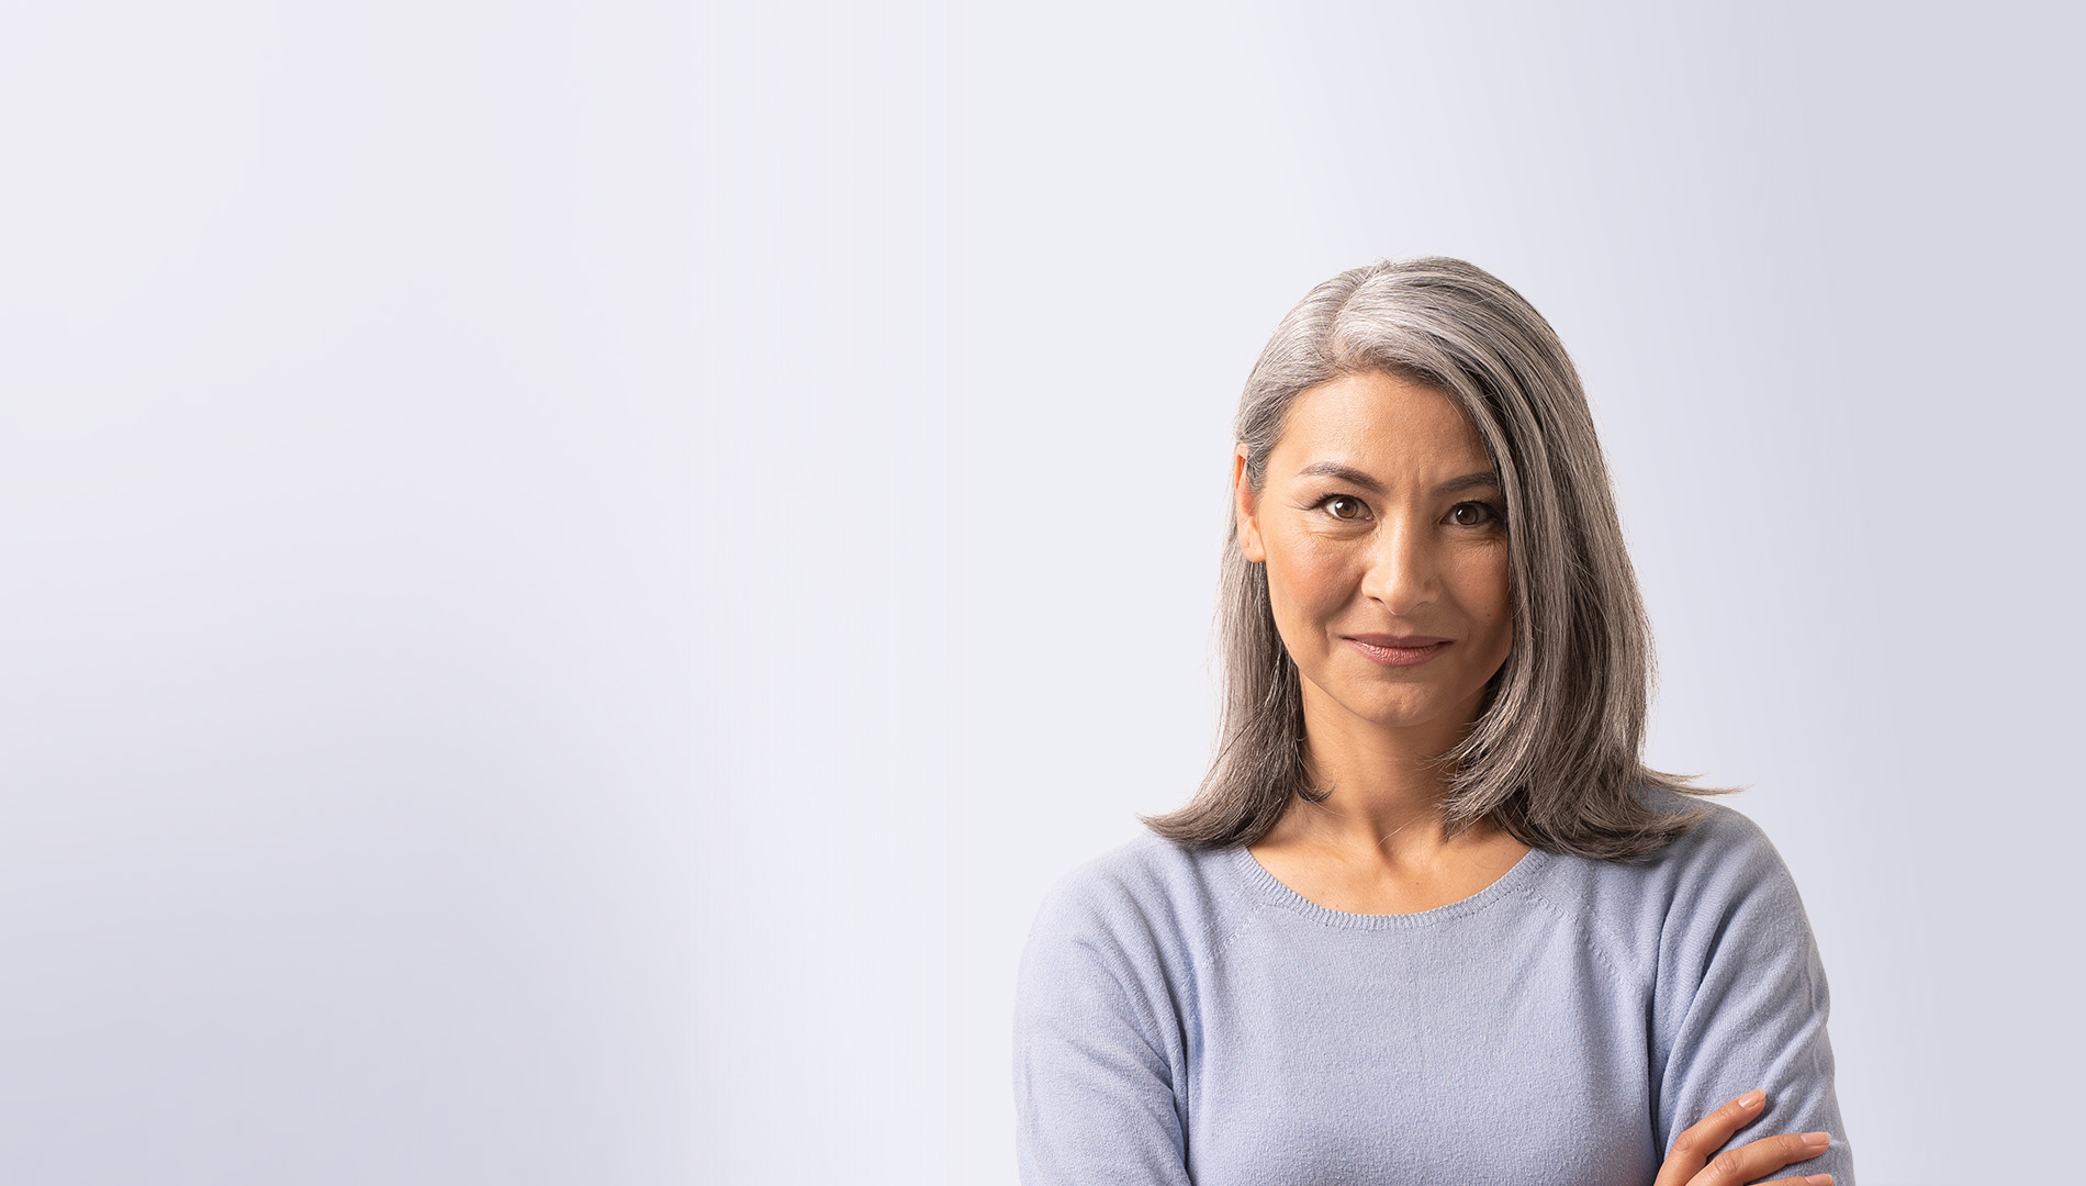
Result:
[[[1014,996],[1024,1186],[1189,1186],[1154,935],[1093,871],[1043,904]],[[1179,1031],[1179,1027],[1172,1027]]]

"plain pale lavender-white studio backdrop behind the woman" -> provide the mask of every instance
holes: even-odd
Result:
[[[1012,1182],[1049,883],[1208,758],[1229,418],[1466,257],[1869,1186],[2082,1102],[2055,6],[15,6],[0,1180]]]

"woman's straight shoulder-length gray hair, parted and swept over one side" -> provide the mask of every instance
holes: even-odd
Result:
[[[1387,372],[1456,399],[1500,472],[1514,641],[1471,731],[1444,762],[1452,831],[1491,819],[1550,852],[1633,860],[1700,812],[1660,812],[1640,789],[1719,793],[1644,766],[1650,626],[1579,374],[1548,322],[1460,259],[1343,271],[1275,328],[1235,426],[1260,493],[1297,395]],[[1218,631],[1224,706],[1216,758],[1185,808],[1147,816],[1189,846],[1252,844],[1291,798],[1323,802],[1306,773],[1304,693],[1268,574],[1239,551],[1227,503]]]

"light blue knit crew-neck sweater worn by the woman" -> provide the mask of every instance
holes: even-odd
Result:
[[[1537,850],[1421,915],[1147,835],[1051,892],[1016,992],[1028,1186],[1650,1186],[1752,1088],[1738,1142],[1834,1134],[1771,1178],[1854,1184],[1802,902],[1715,804],[1646,862]]]

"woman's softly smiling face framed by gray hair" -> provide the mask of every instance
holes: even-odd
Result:
[[[1389,374],[1306,388],[1260,493],[1243,449],[1233,489],[1306,720],[1431,727],[1452,745],[1512,645],[1506,499],[1454,399]]]

